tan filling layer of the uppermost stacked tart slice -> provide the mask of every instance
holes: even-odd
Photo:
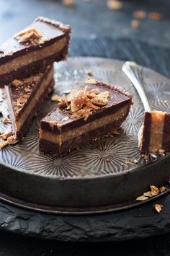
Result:
[[[66,45],[66,37],[61,38],[53,45],[42,48],[41,50],[35,50],[31,53],[25,53],[23,56],[14,58],[14,60],[4,63],[0,66],[0,76],[8,74],[12,71],[16,71],[22,66],[27,66],[35,61],[40,61],[42,58],[47,58],[53,54],[58,53]]]

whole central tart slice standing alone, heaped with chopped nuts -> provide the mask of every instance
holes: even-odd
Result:
[[[127,117],[132,97],[89,79],[58,101],[40,122],[40,151],[61,156],[114,133]]]

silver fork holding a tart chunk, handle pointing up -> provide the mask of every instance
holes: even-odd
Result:
[[[151,112],[151,107],[148,102],[148,98],[146,97],[146,93],[143,89],[143,66],[138,65],[133,61],[126,61],[122,66],[122,71],[128,76],[128,79],[133,83],[133,86],[137,90],[140,100],[143,103],[144,110],[146,112]],[[138,74],[138,76],[137,76]],[[140,138],[140,134],[142,132],[142,126],[138,132],[138,140]],[[150,154],[153,158],[157,158],[156,154]]]

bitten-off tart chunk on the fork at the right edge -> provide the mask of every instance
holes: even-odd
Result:
[[[146,153],[170,151],[170,113],[146,112],[139,146]]]

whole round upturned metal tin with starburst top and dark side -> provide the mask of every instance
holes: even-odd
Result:
[[[45,102],[24,140],[0,151],[1,199],[38,211],[101,213],[140,204],[135,198],[150,185],[169,182],[169,154],[157,159],[150,156],[148,163],[140,155],[138,131],[144,110],[133,85],[121,71],[122,64],[112,59],[83,57],[55,64],[55,93],[66,95],[78,86],[75,81],[81,84],[87,78],[86,70],[91,69],[94,79],[133,94],[134,105],[120,135],[55,158],[38,151],[39,122],[56,104]],[[170,80],[144,68],[143,84],[151,107],[169,111]],[[3,115],[7,114],[4,107]],[[7,125],[0,124],[0,128],[4,126]]]

